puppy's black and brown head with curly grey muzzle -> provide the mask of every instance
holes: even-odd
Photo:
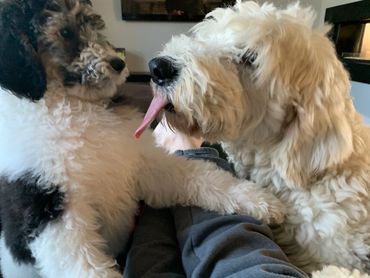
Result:
[[[128,71],[99,32],[104,22],[89,0],[0,3],[0,85],[40,99],[63,87],[86,100],[112,97]]]

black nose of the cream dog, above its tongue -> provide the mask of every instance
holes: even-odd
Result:
[[[157,57],[149,62],[149,70],[152,79],[158,85],[166,85],[177,76],[177,69],[173,61],[166,57]]]

